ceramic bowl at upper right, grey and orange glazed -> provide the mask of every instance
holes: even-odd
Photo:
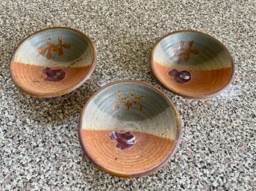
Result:
[[[149,62],[157,81],[183,97],[214,96],[234,78],[227,48],[212,36],[192,30],[163,36],[154,45]]]

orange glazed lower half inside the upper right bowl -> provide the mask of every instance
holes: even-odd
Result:
[[[187,83],[181,84],[174,82],[173,77],[168,75],[168,72],[173,67],[166,67],[154,62],[154,69],[156,75],[169,88],[179,93],[184,94],[211,94],[219,91],[225,84],[228,83],[232,75],[232,68],[222,68],[218,70],[209,71],[190,71],[191,80]],[[181,71],[181,70],[178,70]]]

